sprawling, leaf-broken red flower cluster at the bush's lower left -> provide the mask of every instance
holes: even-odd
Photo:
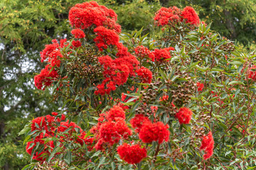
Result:
[[[33,138],[33,141],[27,143],[26,152],[28,152],[28,154],[32,154],[33,148],[36,147],[38,142],[40,145],[43,145],[43,151],[40,153],[33,153],[33,159],[36,159],[38,161],[45,161],[46,157],[50,156],[50,152],[48,149],[50,148],[51,150],[53,150],[55,146],[53,145],[53,141],[45,142],[43,138],[58,137],[59,133],[64,132],[68,128],[70,128],[70,130],[68,131],[68,134],[65,133],[65,140],[73,140],[74,134],[77,133],[75,131],[75,128],[78,128],[78,130],[80,130],[80,135],[77,136],[78,139],[75,140],[75,142],[80,143],[80,145],[83,145],[85,143],[86,145],[88,145],[88,150],[92,149],[91,145],[93,142],[93,138],[85,138],[85,132],[83,132],[83,130],[78,125],[73,122],[69,122],[68,120],[66,122],[63,122],[62,120],[65,120],[65,115],[63,114],[61,115],[61,118],[57,118],[56,115],[58,115],[58,113],[53,112],[52,115],[53,116],[46,115],[38,117],[31,121],[31,132],[34,132],[33,135],[36,136]],[[57,131],[57,134],[55,133],[55,131]],[[63,145],[63,136],[61,135],[58,138],[59,142],[61,142],[60,145]]]

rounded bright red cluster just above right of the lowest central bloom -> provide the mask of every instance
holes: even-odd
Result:
[[[162,122],[151,123],[150,121],[145,121],[139,131],[139,138],[144,143],[151,143],[153,141],[159,142],[161,144],[168,142],[169,140],[169,125],[164,125]]]

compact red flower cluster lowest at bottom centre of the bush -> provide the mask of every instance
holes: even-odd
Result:
[[[141,145],[130,146],[127,143],[117,147],[117,153],[128,164],[138,164],[146,157],[146,149]]]

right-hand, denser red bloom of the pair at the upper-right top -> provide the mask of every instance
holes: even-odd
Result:
[[[198,24],[200,23],[198,14],[191,6],[186,6],[186,8],[183,8],[181,16],[183,17],[183,19],[185,19],[186,23],[191,23],[196,26],[198,26]]]

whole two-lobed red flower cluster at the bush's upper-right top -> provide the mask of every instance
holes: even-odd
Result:
[[[173,24],[180,21],[185,21],[186,23],[191,23],[191,25],[196,26],[200,23],[198,14],[191,6],[186,6],[186,8],[183,8],[183,11],[176,6],[170,8],[162,7],[156,12],[154,20],[156,21],[157,26],[173,26]]]

